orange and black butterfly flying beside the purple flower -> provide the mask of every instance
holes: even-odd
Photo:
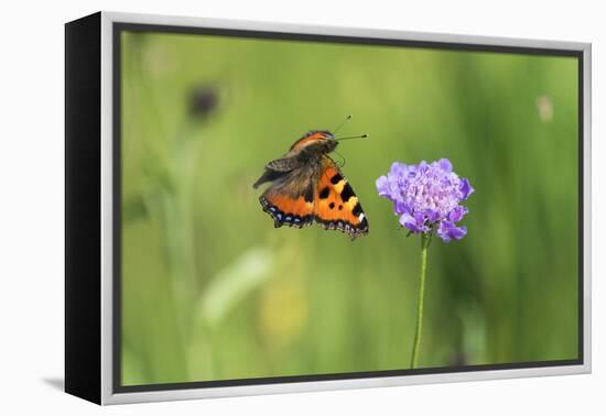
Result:
[[[345,139],[355,138],[366,134]],[[325,230],[348,233],[351,240],[368,233],[368,219],[358,197],[328,156],[338,140],[329,131],[312,130],[286,154],[266,165],[252,187],[270,183],[259,201],[275,228],[303,228],[317,222]]]

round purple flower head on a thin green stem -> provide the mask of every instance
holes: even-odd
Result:
[[[468,212],[459,205],[473,194],[469,180],[453,172],[447,158],[419,165],[394,162],[386,176],[377,179],[379,196],[393,202],[400,223],[413,233],[436,231],[448,242],[461,240],[466,227],[457,227]]]

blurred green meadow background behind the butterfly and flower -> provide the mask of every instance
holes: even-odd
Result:
[[[409,368],[420,241],[375,180],[440,157],[476,191],[467,237],[430,247],[420,366],[577,357],[575,58],[134,32],[121,54],[122,385]],[[370,233],[274,229],[263,165],[349,113]]]

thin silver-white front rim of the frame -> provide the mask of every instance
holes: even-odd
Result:
[[[288,32],[317,35],[393,39],[421,42],[475,44],[553,48],[583,52],[583,166],[584,166],[584,364],[543,366],[532,369],[483,370],[461,373],[387,376],[375,379],[348,379],[281,384],[257,384],[229,387],[196,387],[153,392],[113,393],[112,365],[112,24],[141,23],[187,28],[237,29],[263,32]],[[591,198],[591,79],[592,45],[589,43],[556,42],[527,39],[452,35],[439,33],[400,32],[357,28],[329,28],[237,20],[198,19],[171,15],[101,12],[101,404],[125,404],[169,399],[244,396],[258,394],[312,392],[339,388],[383,387],[410,384],[465,382],[494,379],[512,379],[544,375],[591,373],[591,252],[592,252],[592,198]],[[581,120],[580,120],[581,122]]]

